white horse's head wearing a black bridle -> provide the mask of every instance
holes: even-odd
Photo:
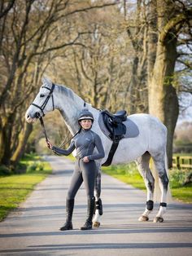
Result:
[[[47,112],[55,109],[53,95],[55,84],[47,78],[43,78],[42,83],[43,84],[36,98],[33,100],[33,103],[30,104],[27,112],[25,113],[25,119],[29,123],[36,121],[37,118],[43,117]]]

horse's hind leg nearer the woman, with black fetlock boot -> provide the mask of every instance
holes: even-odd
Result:
[[[153,175],[151,174],[151,170],[149,167],[151,155],[149,152],[145,152],[142,157],[137,158],[137,168],[142,174],[142,178],[144,179],[144,182],[146,184],[146,191],[147,191],[147,197],[146,197],[146,210],[143,212],[142,216],[138,218],[139,221],[147,221],[149,219],[149,214],[153,210],[153,194],[154,194],[154,185],[155,185],[155,179]]]

